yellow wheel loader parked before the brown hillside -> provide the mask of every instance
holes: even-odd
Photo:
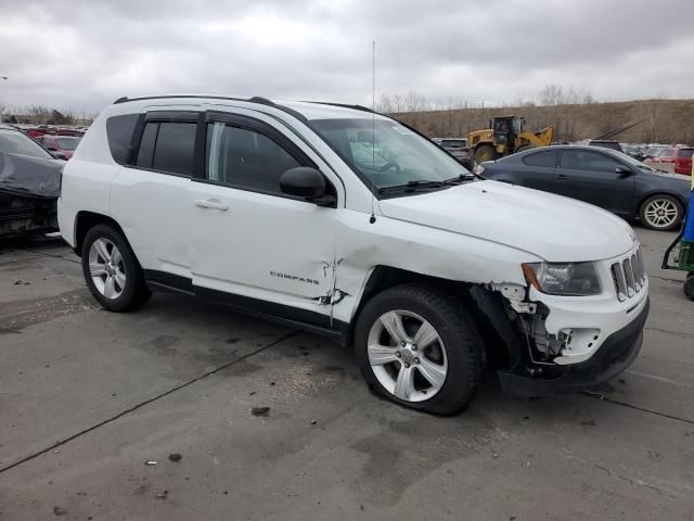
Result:
[[[539,132],[524,129],[525,118],[520,116],[497,116],[489,119],[489,128],[470,132],[467,143],[473,151],[475,163],[493,161],[522,150],[547,147],[554,139],[552,125]]]

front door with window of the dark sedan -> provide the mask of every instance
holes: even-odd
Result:
[[[554,176],[554,192],[594,204],[615,214],[629,214],[633,174],[617,171],[625,163],[597,150],[563,149]]]

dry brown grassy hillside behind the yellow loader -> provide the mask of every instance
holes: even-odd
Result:
[[[642,120],[641,125],[626,130],[615,139],[622,142],[694,144],[694,100],[460,109],[400,113],[394,116],[426,136],[446,138],[466,137],[471,130],[486,128],[490,117],[504,114],[525,116],[526,128],[534,131],[549,123],[554,124],[554,139],[557,141],[596,138],[628,123]]]

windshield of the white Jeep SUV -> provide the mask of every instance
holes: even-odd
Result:
[[[391,119],[317,119],[311,126],[376,189],[440,182],[468,174],[438,145]]]

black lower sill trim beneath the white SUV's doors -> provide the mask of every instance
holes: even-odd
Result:
[[[144,278],[150,289],[154,291],[195,295],[204,301],[222,304],[237,312],[265,318],[292,328],[309,330],[335,338],[346,336],[349,331],[349,325],[347,322],[336,319],[331,320],[330,316],[321,313],[298,309],[284,304],[193,285],[191,279],[166,271],[145,269]]]

